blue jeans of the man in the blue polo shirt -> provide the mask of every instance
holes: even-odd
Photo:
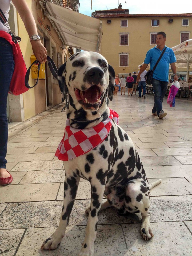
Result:
[[[167,90],[167,85],[168,85],[168,82],[160,81],[153,78],[152,86],[155,91],[155,98],[154,98],[155,103],[152,109],[152,113],[155,113],[157,111],[157,115],[159,115],[159,113],[163,111],[162,102]]]

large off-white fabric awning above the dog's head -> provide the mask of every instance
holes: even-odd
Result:
[[[57,28],[66,46],[84,51],[99,52],[102,39],[102,21],[87,15],[66,9],[46,1],[47,17]]]

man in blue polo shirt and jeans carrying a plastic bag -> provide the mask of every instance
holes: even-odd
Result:
[[[174,80],[177,80],[177,72],[175,67],[176,58],[173,50],[165,45],[165,41],[165,32],[158,32],[156,37],[157,46],[155,46],[147,52],[144,64],[141,70],[139,71],[139,74],[137,75],[138,82],[141,73],[147,68],[149,62],[150,69],[152,70],[158,58],[160,57],[162,51],[166,47],[165,53],[163,54],[156,69],[154,70],[152,81],[153,89],[155,91],[155,103],[152,109],[152,114],[158,116],[159,118],[163,118],[167,115],[167,113],[163,112],[162,102],[167,90],[167,85],[169,83],[169,64],[171,65],[171,70],[173,71],[174,74]]]

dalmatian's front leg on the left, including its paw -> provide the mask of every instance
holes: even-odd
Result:
[[[65,235],[66,227],[69,223],[69,217],[73,208],[73,204],[75,202],[79,180],[79,176],[65,177],[63,209],[59,226],[57,230],[55,230],[53,235],[51,235],[49,238],[46,239],[45,242],[43,242],[41,246],[42,250],[54,250],[61,243],[61,240]]]

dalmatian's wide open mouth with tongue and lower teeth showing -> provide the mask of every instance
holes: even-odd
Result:
[[[75,96],[78,102],[85,107],[96,107],[101,104],[102,95],[97,85],[91,85],[86,91],[75,89]]]

